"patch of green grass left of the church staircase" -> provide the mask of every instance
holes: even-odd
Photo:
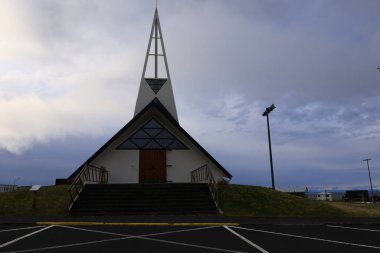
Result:
[[[37,193],[36,208],[33,209],[33,192],[19,188],[13,192],[0,193],[1,216],[65,216],[69,195],[66,185],[45,186]]]

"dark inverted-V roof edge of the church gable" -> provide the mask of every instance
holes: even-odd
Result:
[[[131,121],[129,121],[119,132],[117,132],[109,141],[107,141],[98,151],[96,151],[87,161],[85,161],[77,170],[75,170],[68,178],[73,179],[86,164],[90,164],[100,153],[102,153],[114,140],[116,140],[126,129],[135,123],[142,115],[145,114],[151,107],[157,108],[165,117],[172,123],[183,135],[186,136],[204,155],[207,156],[221,171],[223,171],[228,178],[232,175],[214,159],[198,142],[196,142],[186,131],[183,129],[177,120],[168,112],[168,110],[155,98],[143,110],[141,110]]]

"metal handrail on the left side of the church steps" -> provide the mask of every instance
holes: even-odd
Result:
[[[104,167],[96,167],[94,165],[85,164],[79,174],[75,177],[72,184],[67,191],[69,192],[71,203],[69,205],[69,211],[77,200],[83,187],[86,184],[107,184],[108,183],[108,171]]]

